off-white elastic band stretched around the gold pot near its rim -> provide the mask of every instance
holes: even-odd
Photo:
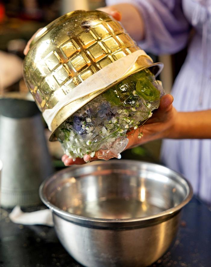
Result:
[[[52,121],[61,108],[81,97],[99,91],[114,83],[133,67],[139,56],[146,56],[150,59],[150,61],[152,61],[150,56],[148,56],[143,50],[137,50],[97,71],[95,74],[77,85],[66,96],[60,99],[60,101],[53,108],[46,109],[43,112],[43,118],[48,124],[49,130],[52,130]]]

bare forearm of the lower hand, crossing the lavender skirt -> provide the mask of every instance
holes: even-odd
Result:
[[[178,112],[167,138],[211,139],[211,110]]]

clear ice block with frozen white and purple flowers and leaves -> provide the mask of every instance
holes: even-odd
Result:
[[[120,158],[128,144],[126,133],[152,116],[164,94],[150,70],[133,74],[75,112],[56,131],[65,154],[73,159]],[[138,138],[143,136],[139,133]]]

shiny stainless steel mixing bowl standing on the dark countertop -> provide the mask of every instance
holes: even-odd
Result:
[[[110,160],[73,166],[40,187],[59,240],[88,267],[147,266],[174,239],[191,185],[161,165]]]

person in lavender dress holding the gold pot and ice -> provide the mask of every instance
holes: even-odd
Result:
[[[137,138],[139,129],[129,133],[127,149],[164,139],[162,162],[184,174],[194,192],[211,203],[211,0],[107,0],[107,5],[100,10],[121,20],[138,45],[154,54],[183,49],[194,27],[187,58],[173,86],[174,107],[173,97],[163,96],[144,126],[143,137]],[[28,50],[29,45],[25,54]],[[64,155],[62,161],[66,166],[83,164],[90,155],[76,161]]]

